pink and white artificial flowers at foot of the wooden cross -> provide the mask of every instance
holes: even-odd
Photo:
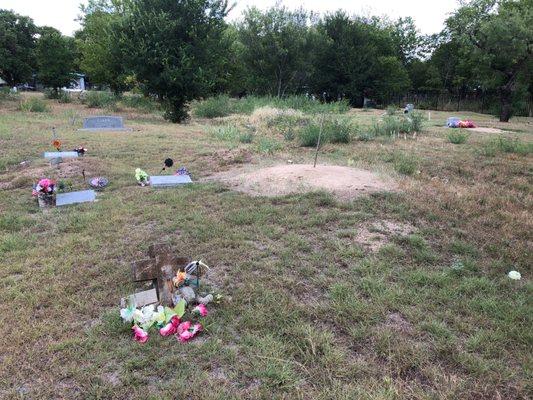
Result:
[[[186,302],[180,300],[174,308],[158,306],[153,304],[137,308],[133,297],[129,299],[129,306],[120,310],[120,316],[125,323],[132,323],[133,340],[139,343],[146,343],[149,339],[149,331],[157,329],[161,336],[174,336],[184,343],[202,330],[203,326],[199,322],[183,321]],[[191,312],[191,317],[205,317],[208,314],[204,304],[198,304]]]

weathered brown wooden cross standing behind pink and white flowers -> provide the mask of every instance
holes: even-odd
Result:
[[[144,260],[131,264],[133,281],[155,281],[159,302],[165,306],[172,306],[174,284],[172,278],[176,272],[185,268],[189,259],[177,257],[166,244],[154,244],[148,248],[148,256]]]

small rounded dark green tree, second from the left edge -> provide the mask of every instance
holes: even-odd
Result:
[[[54,28],[40,28],[37,40],[37,77],[43,85],[52,88],[55,95],[72,80],[75,48],[72,38]]]

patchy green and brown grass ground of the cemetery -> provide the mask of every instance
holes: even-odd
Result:
[[[61,100],[0,99],[0,398],[531,396],[533,118],[218,97],[172,124],[142,97]],[[78,130],[98,115],[131,130]],[[87,153],[50,163],[52,128]],[[193,183],[137,184],[169,157]],[[92,177],[95,202],[32,197]],[[120,318],[157,243],[220,295],[187,343]]]

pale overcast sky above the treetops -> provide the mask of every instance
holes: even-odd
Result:
[[[0,8],[14,10],[33,18],[37,25],[48,25],[66,35],[79,28],[75,21],[79,15],[80,0],[0,0]],[[231,2],[231,1],[230,1]],[[255,5],[266,8],[276,0],[237,0],[229,19],[238,19],[242,10]],[[363,15],[388,15],[392,19],[411,16],[422,33],[439,32],[448,14],[458,6],[457,0],[283,0],[289,8],[304,8],[319,13],[339,8],[348,13]]]

